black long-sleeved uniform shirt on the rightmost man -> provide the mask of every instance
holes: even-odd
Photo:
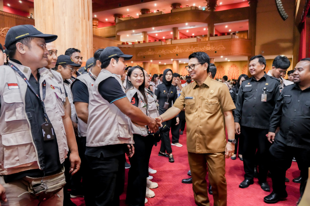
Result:
[[[280,126],[276,139],[298,148],[310,147],[310,87],[304,90],[298,84],[283,88],[270,117],[270,132]]]

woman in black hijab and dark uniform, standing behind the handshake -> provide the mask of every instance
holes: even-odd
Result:
[[[178,98],[178,93],[176,87],[172,85],[172,70],[166,69],[163,73],[162,84],[157,85],[154,94],[157,97],[159,104],[159,114],[163,114],[167,109],[172,106],[172,101]],[[176,117],[178,117],[177,115]],[[162,125],[167,125],[170,128],[171,120],[166,122],[162,122]],[[169,131],[162,132],[160,134],[162,138],[162,143],[160,146],[160,150],[158,152],[158,156],[168,157],[169,162],[174,162],[174,158],[172,155],[172,149],[169,138]]]

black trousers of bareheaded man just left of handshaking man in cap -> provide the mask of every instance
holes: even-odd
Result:
[[[81,166],[80,170],[71,176],[71,191],[79,191],[81,188],[83,188],[83,194],[86,188],[82,187],[84,186],[84,183],[81,183],[82,177],[84,178],[85,175],[85,150],[86,150],[86,137],[76,137],[77,144],[78,144],[78,154],[81,158]]]

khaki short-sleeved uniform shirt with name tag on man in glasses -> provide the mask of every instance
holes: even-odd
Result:
[[[194,81],[182,89],[173,106],[185,107],[188,152],[225,151],[223,112],[236,108],[225,84],[209,76],[201,85]]]

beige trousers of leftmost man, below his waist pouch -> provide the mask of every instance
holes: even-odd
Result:
[[[0,184],[5,188],[7,194],[7,202],[1,201],[1,206],[37,206],[39,201],[30,197],[27,186],[20,180],[5,183],[3,176],[0,176]],[[23,195],[21,195],[23,194]],[[20,195],[20,197],[18,197]],[[57,195],[48,200],[42,201],[40,206],[63,206],[64,189],[60,190]]]

